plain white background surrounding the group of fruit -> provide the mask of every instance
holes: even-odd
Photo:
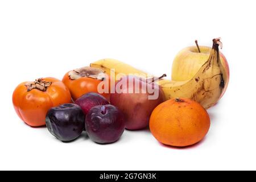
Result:
[[[0,169],[256,169],[255,1],[0,1]],[[15,114],[16,85],[106,57],[170,77],[176,53],[221,36],[230,84],[207,137],[165,147],[149,131],[61,143]]]

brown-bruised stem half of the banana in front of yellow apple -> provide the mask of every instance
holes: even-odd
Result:
[[[166,99],[189,98],[205,109],[214,106],[225,92],[229,79],[228,72],[220,61],[219,47],[222,47],[220,39],[213,39],[208,60],[191,80],[159,80]]]

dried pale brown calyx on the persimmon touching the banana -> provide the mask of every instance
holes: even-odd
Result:
[[[82,67],[79,69],[74,69],[68,73],[68,77],[71,80],[77,80],[81,77],[89,77],[97,80],[105,80],[104,71],[100,68],[92,68],[92,67]]]

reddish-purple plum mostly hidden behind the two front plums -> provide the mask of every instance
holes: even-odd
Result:
[[[94,106],[98,105],[108,105],[109,101],[106,100],[105,97],[101,96],[98,93],[90,92],[82,95],[75,101],[75,104],[79,105],[84,114],[86,115],[90,109]]]

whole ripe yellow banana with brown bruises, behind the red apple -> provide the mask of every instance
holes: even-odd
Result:
[[[205,109],[216,104],[220,99],[227,80],[227,72],[220,61],[218,46],[222,46],[220,39],[213,39],[213,47],[209,59],[199,69],[196,75],[187,81],[158,80],[158,84],[163,89],[166,100],[172,98],[190,98],[199,102]],[[90,67],[101,68],[110,74],[111,69],[115,69],[115,74],[144,74],[125,63],[113,59],[103,59],[90,64]],[[115,78],[118,80],[117,78]]]

